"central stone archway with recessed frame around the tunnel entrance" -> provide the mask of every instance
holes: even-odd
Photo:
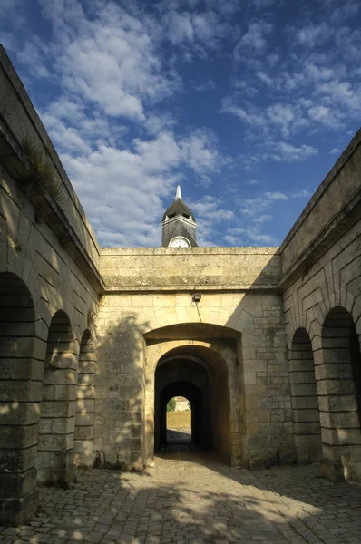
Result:
[[[228,327],[180,324],[152,330],[144,337],[145,462],[152,461],[154,449],[156,450],[160,443],[161,423],[156,404],[160,402],[161,391],[156,384],[156,372],[157,369],[161,369],[162,364],[168,364],[170,367],[175,364],[178,370],[174,369],[173,375],[168,374],[162,386],[183,383],[199,387],[203,396],[203,416],[205,410],[210,414],[209,433],[207,439],[202,439],[203,444],[218,451],[227,463],[241,464],[245,458],[243,451],[245,444],[240,434],[240,334]],[[203,371],[196,371],[200,368]],[[197,379],[194,372],[198,374]],[[197,383],[197,380],[201,381],[200,374],[203,376],[201,386]],[[184,392],[184,387],[178,391]]]

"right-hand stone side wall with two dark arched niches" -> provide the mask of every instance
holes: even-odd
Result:
[[[361,479],[361,131],[279,248],[300,460]]]

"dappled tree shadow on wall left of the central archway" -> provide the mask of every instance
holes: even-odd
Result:
[[[94,466],[141,470],[144,340],[135,315],[112,320],[110,311],[98,335],[94,384]]]

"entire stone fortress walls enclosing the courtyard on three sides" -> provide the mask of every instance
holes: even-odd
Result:
[[[60,199],[19,182],[26,138]],[[99,248],[0,50],[0,524],[75,466],[151,463],[184,376],[225,461],[360,479],[360,161],[361,131],[280,248]]]

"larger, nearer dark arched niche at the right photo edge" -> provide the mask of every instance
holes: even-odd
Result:
[[[322,470],[332,481],[361,480],[361,353],[354,320],[341,306],[322,328],[315,368],[322,431]]]

